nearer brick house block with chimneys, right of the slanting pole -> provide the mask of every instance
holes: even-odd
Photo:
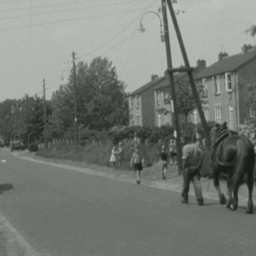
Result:
[[[207,92],[208,105],[204,106],[206,120],[227,122],[231,130],[250,117],[246,84],[256,82],[256,50],[242,46],[240,54],[218,54],[218,62],[199,72],[195,78]],[[195,122],[200,122],[194,110]]]

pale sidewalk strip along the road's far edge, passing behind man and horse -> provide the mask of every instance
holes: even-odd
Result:
[[[12,153],[14,156],[22,159],[26,159],[32,162],[38,162],[50,166],[60,166],[64,169],[75,170],[86,174],[93,174],[107,178],[113,178],[122,180],[124,182],[135,183],[136,175],[133,170],[118,170],[112,169],[107,166],[89,165],[85,162],[72,162],[70,160],[63,159],[45,159],[36,156],[34,153],[28,151],[21,151]],[[142,184],[141,186],[153,186],[162,190],[171,190],[178,192],[177,196],[180,196],[182,191],[182,175],[178,176],[178,167],[168,166],[166,180],[162,180],[162,170],[158,163],[155,166],[145,168],[141,172]],[[226,182],[220,181],[222,193],[226,194]],[[218,193],[214,188],[213,180],[209,181],[208,178],[202,178],[202,194],[206,199],[217,200]],[[194,195],[194,187],[190,186],[190,195]],[[246,206],[248,200],[248,190],[246,185],[242,185],[238,192],[239,206]],[[254,189],[253,198],[256,198],[256,190]],[[191,198],[190,202],[195,202],[195,199]],[[254,200],[255,205],[255,200]]]

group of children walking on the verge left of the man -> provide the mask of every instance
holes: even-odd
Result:
[[[130,168],[134,167],[134,171],[137,175],[136,182],[137,184],[140,184],[141,183],[140,172],[142,171],[142,163],[144,162],[144,159],[142,158],[142,153],[140,151],[137,134],[135,134],[134,139],[138,143],[132,143],[133,154],[130,160]],[[166,146],[162,145],[161,152],[159,153],[159,158],[160,158],[161,168],[162,168],[162,179],[166,179],[166,170],[167,170],[168,163],[170,165],[174,165],[174,162],[176,161],[176,145],[175,145],[174,139],[170,139],[169,150],[170,150],[170,155],[166,153]],[[123,160],[124,160],[123,146],[122,146],[122,142],[119,142],[119,147],[117,148],[117,146],[114,146],[111,151],[110,164],[113,168],[115,168],[116,162],[118,162],[119,168],[121,168]],[[170,161],[172,162],[170,163]]]

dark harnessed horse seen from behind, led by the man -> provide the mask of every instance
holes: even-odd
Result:
[[[247,214],[254,213],[252,193],[254,188],[254,146],[250,139],[238,133],[227,130],[226,126],[219,126],[216,130],[212,145],[211,167],[214,170],[214,186],[218,191],[219,202],[226,204],[231,210],[238,209],[238,188],[246,174],[249,198]],[[227,175],[228,198],[219,186],[219,175]]]

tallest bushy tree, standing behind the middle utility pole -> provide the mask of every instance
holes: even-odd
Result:
[[[107,58],[94,58],[90,66],[77,65],[77,112],[78,123],[90,129],[108,130],[114,125],[128,123],[124,82],[112,62]],[[60,86],[52,97],[53,129],[65,134],[74,127],[74,74],[70,70],[69,81]]]

